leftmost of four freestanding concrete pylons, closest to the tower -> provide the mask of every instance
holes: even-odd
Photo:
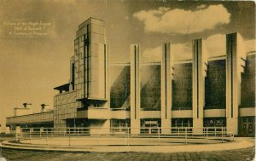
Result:
[[[140,134],[140,49],[131,44],[131,134]]]

